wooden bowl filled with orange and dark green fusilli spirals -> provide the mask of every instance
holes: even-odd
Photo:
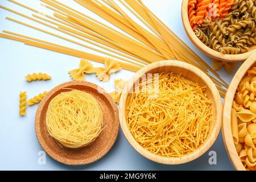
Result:
[[[242,13],[241,6],[245,7]],[[255,7],[253,0],[221,4],[217,0],[183,0],[181,17],[188,38],[201,52],[216,60],[244,61],[256,47],[255,20],[250,10]]]

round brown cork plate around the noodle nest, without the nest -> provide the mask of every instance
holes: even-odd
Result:
[[[104,112],[104,127],[100,136],[95,142],[87,147],[82,148],[62,148],[53,139],[46,127],[46,113],[49,102],[61,92],[68,92],[72,88],[82,90],[92,94],[102,106]],[[112,97],[100,86],[86,81],[70,81],[65,82],[53,88],[40,103],[35,117],[35,132],[40,145],[49,156],[60,163],[68,165],[82,165],[93,163],[108,153],[117,139],[119,130],[118,109],[114,104]]]

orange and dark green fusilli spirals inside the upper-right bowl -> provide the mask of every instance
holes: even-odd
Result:
[[[240,54],[256,45],[254,0],[200,0],[196,5],[195,1],[191,3],[193,7],[196,6],[193,10],[198,16],[197,20],[193,21],[192,28],[201,42],[208,47],[224,54]],[[209,6],[205,10],[208,3]]]

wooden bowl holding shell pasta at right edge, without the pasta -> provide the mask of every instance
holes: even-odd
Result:
[[[237,170],[245,170],[243,164],[237,154],[236,147],[234,145],[234,140],[231,130],[231,109],[232,102],[234,100],[234,95],[242,78],[246,75],[247,71],[256,65],[256,52],[253,53],[246,61],[241,65],[241,67],[234,75],[233,80],[231,81],[228,91],[226,92],[225,101],[224,101],[224,113],[223,113],[223,122],[222,122],[222,137],[224,140],[226,151],[228,152],[229,159],[231,160],[234,168]]]

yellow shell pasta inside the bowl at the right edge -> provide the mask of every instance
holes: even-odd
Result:
[[[251,171],[256,171],[255,75],[256,67],[253,67],[249,69],[249,71],[247,71],[247,75],[242,78],[233,101],[231,117],[232,134],[237,153],[246,170]],[[238,119],[237,125],[235,115]],[[238,142],[236,134],[237,130]]]

